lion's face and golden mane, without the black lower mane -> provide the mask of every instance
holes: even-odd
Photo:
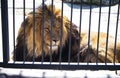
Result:
[[[51,6],[45,8],[42,19],[42,10],[39,8],[35,13],[35,31],[33,31],[33,13],[28,14],[25,20],[27,55],[33,56],[34,52],[34,56],[38,57],[43,52],[45,55],[49,55],[50,51],[58,52],[60,45],[64,47],[68,39],[69,22],[67,17],[61,17],[59,9],[53,8],[52,13]],[[23,32],[23,26],[19,31],[20,34]]]

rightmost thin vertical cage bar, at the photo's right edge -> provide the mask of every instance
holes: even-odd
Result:
[[[116,44],[117,44],[117,34],[118,34],[119,13],[120,13],[120,0],[119,0],[119,4],[118,4],[117,21],[116,21],[115,44],[114,44],[114,59],[113,59],[114,65],[115,65],[115,59],[116,59]]]

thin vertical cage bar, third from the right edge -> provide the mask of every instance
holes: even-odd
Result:
[[[97,37],[97,53],[96,53],[96,64],[98,65],[98,50],[99,50],[99,36],[100,36],[100,23],[101,23],[101,4],[102,0],[100,0],[100,8],[99,8],[99,20],[98,20],[98,37]]]

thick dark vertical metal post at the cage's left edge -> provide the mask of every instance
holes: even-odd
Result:
[[[8,1],[1,0],[3,63],[9,60]]]

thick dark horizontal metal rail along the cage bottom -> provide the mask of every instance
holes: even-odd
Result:
[[[12,64],[4,65],[0,63],[0,66],[4,68],[25,68],[25,69],[60,69],[60,70],[120,70],[120,65],[68,65],[68,64]]]

